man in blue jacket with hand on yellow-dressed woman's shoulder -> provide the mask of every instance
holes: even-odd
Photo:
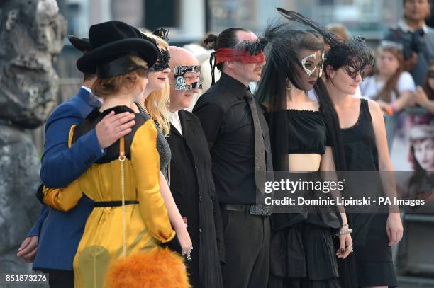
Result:
[[[69,41],[86,53],[91,49],[89,40],[72,35]],[[60,104],[45,124],[45,144],[40,178],[50,188],[62,188],[82,175],[104,156],[104,149],[128,134],[135,122],[133,113],[106,115],[96,128],[68,148],[69,129],[78,125],[101,101],[91,94],[94,74],[84,74],[78,93]],[[43,205],[40,218],[28,233],[18,256],[33,262],[33,270],[48,272],[50,287],[74,287],[72,261],[93,202],[82,197],[79,205],[69,212],[59,212]],[[38,252],[38,253],[36,253]]]

